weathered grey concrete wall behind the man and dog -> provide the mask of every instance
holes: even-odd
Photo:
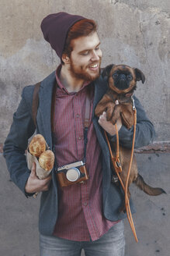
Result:
[[[47,14],[60,11],[97,21],[102,66],[125,63],[143,71],[146,82],[138,84],[136,94],[154,123],[156,140],[170,141],[169,10],[169,0],[1,0],[0,145],[9,132],[23,87],[36,84],[59,64],[55,52],[43,40],[40,22]],[[169,155],[160,156],[141,155],[138,162],[150,183],[164,187],[169,194]],[[1,153],[0,157],[0,254],[36,256],[40,197],[26,200],[10,183]],[[153,168],[154,176],[148,174]],[[142,192],[134,193],[140,244],[135,244],[127,223],[127,256],[154,256],[158,252],[168,256],[168,196],[148,198]]]

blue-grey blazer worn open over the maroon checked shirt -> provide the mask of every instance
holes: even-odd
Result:
[[[26,181],[29,177],[29,169],[26,165],[25,150],[27,148],[28,139],[36,133],[43,135],[50,149],[53,149],[51,127],[50,127],[50,106],[54,84],[56,84],[55,72],[47,76],[40,85],[40,104],[36,116],[37,127],[33,124],[32,119],[32,101],[34,86],[23,88],[22,99],[19,107],[13,116],[13,123],[9,131],[9,135],[5,140],[4,156],[9,169],[11,179],[20,190],[25,193]],[[123,200],[123,192],[119,187],[111,183],[111,170],[109,160],[109,148],[103,134],[98,119],[94,115],[94,109],[103,94],[106,93],[107,83],[100,77],[95,81],[95,98],[93,102],[92,122],[95,127],[95,132],[102,148],[102,199],[103,199],[103,215],[106,219],[116,221],[123,219],[126,214],[120,213],[120,205]],[[144,109],[140,102],[135,98],[137,108],[137,132],[135,140],[135,148],[151,143],[154,138],[154,126],[147,118]],[[60,120],[59,120],[60,121]],[[130,148],[132,144],[134,128],[127,130],[122,126],[119,131],[120,144]],[[110,140],[115,140],[111,137]],[[28,196],[28,194],[26,194]],[[134,207],[131,204],[132,212]],[[40,216],[39,229],[43,235],[51,235],[54,231],[54,226],[57,221],[57,180],[54,169],[52,171],[52,182],[50,189],[43,192],[40,201]]]

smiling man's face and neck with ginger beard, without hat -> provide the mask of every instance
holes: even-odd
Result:
[[[79,26],[84,24],[81,20]],[[77,25],[78,26],[78,25]],[[92,82],[99,77],[102,51],[99,48],[96,32],[71,41],[73,51],[62,55],[64,65],[61,68],[61,80],[68,84],[68,90],[79,91],[85,81]]]

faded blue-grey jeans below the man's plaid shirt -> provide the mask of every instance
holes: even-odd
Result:
[[[117,223],[99,240],[78,242],[56,236],[40,234],[40,256],[123,256],[124,255],[123,221]]]

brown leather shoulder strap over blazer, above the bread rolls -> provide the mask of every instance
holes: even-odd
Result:
[[[40,91],[40,83],[37,83],[34,87],[33,91],[33,104],[32,104],[32,116],[33,116],[33,123],[36,126],[36,115],[39,105],[39,91]]]

